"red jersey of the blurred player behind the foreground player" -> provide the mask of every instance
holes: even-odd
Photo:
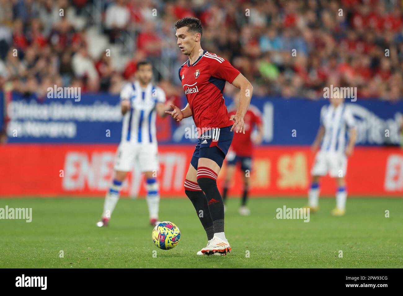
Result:
[[[229,115],[235,115],[237,110],[232,110]],[[231,149],[239,156],[251,156],[253,144],[251,140],[251,135],[253,128],[256,125],[262,124],[262,117],[260,111],[255,106],[250,105],[246,111],[245,117],[243,118],[245,125],[245,134],[243,132],[235,132],[234,139],[231,143]]]

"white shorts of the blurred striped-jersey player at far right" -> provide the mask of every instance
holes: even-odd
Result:
[[[311,170],[312,176],[345,177],[347,173],[347,156],[344,153],[319,151]]]

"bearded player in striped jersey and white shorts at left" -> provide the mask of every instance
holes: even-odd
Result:
[[[106,193],[104,211],[97,226],[107,226],[119,200],[122,183],[127,172],[132,171],[135,161],[145,174],[147,205],[150,224],[158,224],[160,195],[156,172],[159,169],[156,138],[156,115],[165,116],[170,109],[165,103],[165,93],[152,84],[152,65],[143,61],[137,64],[137,81],[123,87],[120,106],[123,114],[122,139],[116,152],[115,178]]]

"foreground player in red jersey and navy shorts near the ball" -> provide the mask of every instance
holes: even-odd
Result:
[[[203,50],[203,28],[199,19],[185,17],[175,22],[177,44],[189,57],[179,68],[187,105],[182,110],[171,104],[166,111],[177,121],[193,116],[199,141],[186,174],[185,193],[193,203],[207,234],[207,246],[197,255],[231,251],[224,234],[224,203],[217,176],[231,145],[234,132],[245,132],[243,118],[252,96],[252,85],[227,60]],[[222,93],[226,81],[239,88],[238,111],[229,116]]]

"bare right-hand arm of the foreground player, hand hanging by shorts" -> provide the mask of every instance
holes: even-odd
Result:
[[[239,92],[239,108],[237,110],[237,113],[235,115],[231,115],[230,118],[230,120],[235,121],[233,126],[231,127],[231,131],[241,131],[245,134],[245,124],[243,122],[243,117],[245,116],[245,113],[249,107],[249,103],[251,102],[253,87],[251,83],[241,73],[239,73],[238,76],[235,77],[232,85],[239,88],[241,91]]]

